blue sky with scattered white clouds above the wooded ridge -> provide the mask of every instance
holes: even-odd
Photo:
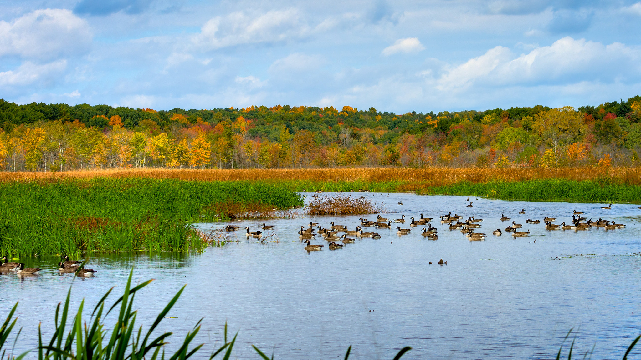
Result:
[[[0,1],[0,98],[460,111],[641,94],[641,3]]]

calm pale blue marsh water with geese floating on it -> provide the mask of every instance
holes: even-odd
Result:
[[[401,214],[418,218],[423,213],[438,220],[449,211],[483,218],[476,232],[487,233],[487,240],[468,241],[460,231],[449,231],[447,224],[436,221],[432,225],[439,231],[437,241],[422,238],[422,226],[400,238],[395,230],[383,229],[378,231],[380,240],[356,240],[342,250],[326,246],[306,252],[296,231],[308,218],[270,220],[266,222],[276,228],[268,234],[276,234],[278,243],[248,241],[237,231],[232,238],[243,242],[203,254],[92,257],[87,267],[98,272],[73,281],[74,304],[85,298],[85,307],[92,309],[112,286],[117,286],[115,300],[128,269],[135,266],[136,281],[156,279],[137,297],[138,319],[149,325],[187,284],[168,315],[177,318],[165,319],[158,330],[174,332],[178,343],[204,317],[199,341],[207,344],[198,358],[220,345],[226,321],[232,334],[238,331],[233,354],[237,359],[258,359],[251,344],[280,359],[342,359],[349,345],[353,345],[353,359],[392,359],[404,346],[413,348],[404,358],[550,359],[572,327],[580,327],[575,347],[585,352],[596,344],[593,359],[612,359],[622,357],[641,333],[641,210],[637,206],[617,204],[604,210],[599,209],[602,204],[470,197],[474,207],[466,208],[467,197],[365,196],[385,201],[390,211],[397,211],[383,215],[388,218]],[[403,206],[396,205],[399,200]],[[525,215],[518,214],[522,208]],[[613,231],[545,231],[543,224],[525,222],[548,216],[559,218],[555,224],[569,224],[574,209],[584,211],[587,218],[628,226]],[[529,229],[531,236],[513,238],[505,232],[493,236],[492,230],[511,224],[499,221],[501,214],[523,224],[522,230]],[[354,229],[358,218],[313,221],[322,225],[334,221]],[[233,224],[255,231],[262,223]],[[224,225],[198,227],[209,230]],[[327,245],[320,236],[312,243]],[[437,265],[439,259],[447,265]],[[17,314],[24,330],[16,345],[19,350],[35,346],[38,322],[50,333],[56,304],[74,278],[58,274],[58,258],[24,261],[44,268],[42,276],[0,275],[3,313],[16,300],[21,302]],[[641,354],[641,348],[635,354]]]

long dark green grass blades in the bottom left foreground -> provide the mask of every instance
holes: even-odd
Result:
[[[58,304],[58,307],[56,307],[55,329],[49,340],[46,340],[42,330],[38,327],[38,346],[33,350],[23,352],[19,356],[14,356],[6,346],[10,343],[10,336],[12,336],[17,322],[17,318],[12,321],[18,307],[18,303],[16,303],[6,317],[2,327],[0,327],[0,358],[7,360],[21,360],[26,356],[34,358],[35,356],[32,354],[37,352],[38,360],[187,360],[194,356],[196,352],[199,352],[205,344],[193,346],[192,343],[201,329],[200,323],[202,319],[196,322],[192,331],[187,332],[184,340],[179,343],[180,346],[176,350],[165,349],[165,345],[169,343],[168,340],[173,335],[172,332],[154,333],[163,318],[167,316],[174,304],[176,304],[187,285],[176,293],[169,301],[169,304],[158,314],[153,325],[146,332],[143,332],[142,325],[138,326],[136,323],[138,311],[133,309],[133,300],[138,291],[147,286],[151,280],[132,288],[132,277],[133,268],[129,273],[129,279],[123,295],[115,300],[112,306],[108,307],[106,306],[106,299],[113,288],[108,290],[96,304],[88,320],[83,320],[84,299],[75,315],[69,311],[71,300],[71,288],[69,288],[65,302]],[[116,318],[115,323],[110,327],[107,326],[105,320],[112,311]],[[15,340],[18,340],[21,330],[17,332]],[[237,336],[238,333],[229,341],[227,325],[225,324],[224,343],[221,347],[212,349],[209,359],[212,360],[222,354],[222,360],[229,360]],[[263,360],[274,359],[273,355],[269,358],[259,348],[254,345],[252,347],[258,354],[257,358],[260,357]],[[410,347],[401,349],[394,357],[394,360],[399,360],[410,349]],[[345,360],[349,358],[350,352],[351,347],[347,348]]]

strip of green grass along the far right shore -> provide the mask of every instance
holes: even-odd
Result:
[[[460,181],[444,186],[430,186],[420,195],[470,195],[500,200],[556,202],[641,202],[641,186],[599,181],[545,179],[528,181]]]

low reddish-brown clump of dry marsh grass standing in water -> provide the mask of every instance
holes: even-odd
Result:
[[[378,205],[369,197],[356,195],[320,195],[312,198],[305,206],[304,214],[315,215],[362,215],[387,212],[381,203]]]

